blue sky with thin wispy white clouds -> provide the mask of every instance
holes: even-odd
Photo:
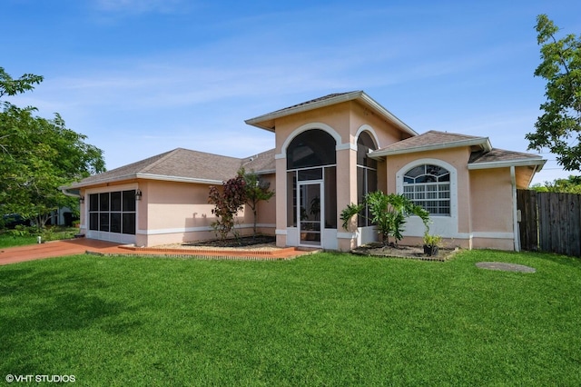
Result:
[[[245,119],[353,90],[416,132],[533,152],[539,14],[581,33],[578,0],[3,0],[0,66],[44,75],[11,102],[61,114],[108,169],[177,147],[257,154],[274,135]],[[543,156],[535,183],[570,174]]]

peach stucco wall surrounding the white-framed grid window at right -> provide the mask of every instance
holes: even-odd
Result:
[[[387,157],[388,193],[403,193],[402,174],[418,164],[451,168],[450,216],[431,216],[430,233],[448,246],[514,249],[512,184],[509,168],[468,170],[469,148],[452,148]],[[445,163],[445,164],[444,164]],[[412,216],[402,243],[421,244],[425,227]]]

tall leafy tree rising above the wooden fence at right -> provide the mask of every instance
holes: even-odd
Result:
[[[556,39],[559,28],[547,15],[537,16],[541,64],[535,76],[547,80],[544,114],[536,132],[526,135],[528,149],[548,148],[566,171],[581,169],[581,36]]]

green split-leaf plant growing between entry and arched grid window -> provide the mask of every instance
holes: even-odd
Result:
[[[378,233],[381,234],[383,244],[389,245],[389,236],[393,236],[398,243],[402,238],[404,225],[410,215],[418,215],[428,229],[429,213],[420,205],[412,203],[403,194],[389,193],[381,191],[367,193],[365,203],[369,206],[371,223],[378,226]],[[343,221],[343,228],[348,230],[351,218],[360,213],[364,204],[350,203],[340,215]]]

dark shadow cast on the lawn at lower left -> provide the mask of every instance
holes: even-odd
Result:
[[[103,334],[137,329],[139,323],[117,318],[134,308],[103,295],[108,286],[91,273],[18,266],[0,271],[0,369],[14,374],[41,371],[34,356],[28,360],[21,354],[62,356],[63,349],[51,346],[51,338],[78,338],[95,328]]]

